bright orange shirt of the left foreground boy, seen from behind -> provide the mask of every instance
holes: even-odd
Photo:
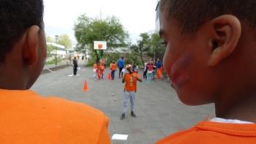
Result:
[[[0,89],[0,143],[110,143],[108,118],[99,110],[33,91]]]

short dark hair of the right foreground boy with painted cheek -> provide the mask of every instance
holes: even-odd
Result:
[[[203,23],[220,15],[236,16],[243,24],[256,26],[255,0],[161,0],[161,12],[178,21],[183,32],[197,31]]]

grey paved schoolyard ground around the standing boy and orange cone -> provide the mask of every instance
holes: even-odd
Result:
[[[109,118],[109,130],[113,134],[128,134],[127,140],[112,140],[117,144],[150,144],[161,137],[187,129],[198,121],[212,117],[213,105],[188,107],[178,100],[170,83],[155,81],[148,84],[144,80],[138,83],[135,98],[135,113],[129,113],[120,120],[124,85],[121,79],[94,80],[91,68],[78,71],[80,76],[69,77],[72,67],[41,75],[31,88],[42,95],[55,95],[76,102],[83,102],[102,110]],[[116,72],[117,74],[117,72]],[[87,80],[89,91],[83,92],[83,83]]]

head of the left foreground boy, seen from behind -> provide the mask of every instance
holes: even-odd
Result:
[[[42,0],[0,0],[0,88],[30,88],[46,59]]]

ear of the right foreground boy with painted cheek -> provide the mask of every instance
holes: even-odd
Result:
[[[241,23],[233,15],[221,15],[210,22],[213,30],[211,45],[211,57],[208,65],[211,67],[219,64],[227,56],[233,53],[241,37]]]

